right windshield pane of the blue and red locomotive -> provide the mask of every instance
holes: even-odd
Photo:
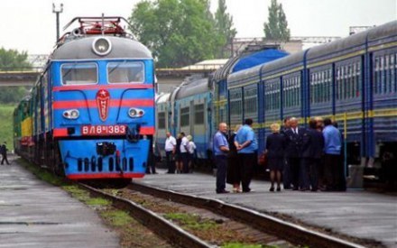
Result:
[[[107,64],[107,78],[111,84],[143,83],[144,66],[142,62],[116,61]]]

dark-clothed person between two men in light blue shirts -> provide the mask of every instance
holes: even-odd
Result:
[[[233,185],[233,192],[240,193],[241,183],[241,162],[237,155],[237,148],[235,147],[235,134],[238,132],[242,125],[236,124],[235,130],[229,138],[229,153],[227,154],[227,170],[226,170],[226,183]]]

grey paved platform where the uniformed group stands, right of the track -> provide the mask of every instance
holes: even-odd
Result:
[[[397,247],[397,196],[347,189],[346,192],[283,190],[270,192],[270,182],[253,180],[254,192],[216,194],[216,178],[199,172],[190,174],[148,174],[134,183],[169,189],[198,197],[216,198],[226,203],[262,213],[291,216],[301,222],[327,228],[337,234],[374,240]],[[226,185],[226,189],[232,186]]]

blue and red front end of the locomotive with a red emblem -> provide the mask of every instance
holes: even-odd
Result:
[[[69,179],[142,178],[152,152],[152,54],[106,22],[81,25],[51,55],[52,134]]]

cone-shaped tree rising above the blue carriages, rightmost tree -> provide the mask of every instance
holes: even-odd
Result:
[[[268,22],[264,23],[264,38],[272,41],[289,41],[290,29],[288,28],[287,17],[282,10],[282,4],[278,4],[277,0],[272,0],[269,9]]]

